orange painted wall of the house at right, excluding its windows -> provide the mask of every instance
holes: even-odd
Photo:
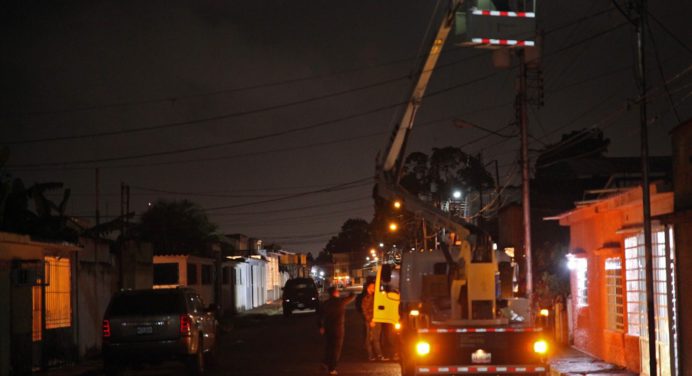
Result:
[[[653,215],[672,212],[672,195],[656,194],[652,189],[651,211]],[[607,328],[607,294],[605,260],[621,257],[623,275],[623,299],[626,300],[624,239],[619,230],[641,223],[641,191],[633,189],[564,214],[560,223],[570,227],[570,250],[582,249],[587,258],[588,305],[577,305],[576,274],[573,272],[572,304],[575,307],[573,322],[574,346],[607,362],[639,372],[639,338],[627,335],[627,307],[625,329],[614,331]]]

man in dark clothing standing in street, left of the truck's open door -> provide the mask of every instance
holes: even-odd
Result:
[[[346,304],[356,299],[351,295],[341,298],[339,290],[332,286],[329,288],[329,299],[320,307],[320,334],[325,336],[324,363],[327,365],[330,375],[336,375],[336,363],[341,356],[341,347],[344,343],[344,322],[346,316]]]

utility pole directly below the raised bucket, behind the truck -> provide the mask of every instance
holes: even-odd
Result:
[[[529,121],[527,113],[526,59],[523,48],[517,49],[519,58],[519,87],[516,97],[516,113],[521,130],[521,203],[524,218],[524,261],[526,263],[526,296],[533,294],[533,273],[531,262],[531,203],[529,201]]]

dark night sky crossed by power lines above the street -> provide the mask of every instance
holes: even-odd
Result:
[[[650,150],[665,155],[679,122],[671,101],[681,120],[692,117],[692,2],[649,3],[676,38],[650,21],[661,62],[649,43]],[[98,168],[102,216],[120,213],[125,182],[138,213],[157,198],[188,198],[225,233],[316,254],[347,218],[371,219],[375,158],[435,5],[10,2],[0,20],[8,171],[27,184],[64,182],[68,213],[93,218]],[[595,126],[611,138],[610,156],[638,155],[639,112],[624,107],[637,93],[632,27],[605,0],[543,1],[537,13],[546,94],[531,110],[531,148]],[[451,43],[440,64],[428,93],[450,90],[426,98],[408,150],[482,151],[499,161],[502,184],[518,183],[516,138],[452,122],[515,132],[516,70]]]

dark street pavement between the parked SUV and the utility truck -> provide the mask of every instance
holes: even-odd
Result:
[[[242,314],[224,320],[219,338],[217,364],[207,375],[325,375],[321,360],[324,339],[320,336],[315,311],[295,311],[283,317],[280,305],[269,305],[260,313]],[[257,312],[254,310],[253,312]],[[363,323],[350,304],[346,311],[346,337],[339,362],[339,375],[400,375],[396,362],[368,362],[363,347]],[[125,375],[185,375],[182,364],[166,362]]]

